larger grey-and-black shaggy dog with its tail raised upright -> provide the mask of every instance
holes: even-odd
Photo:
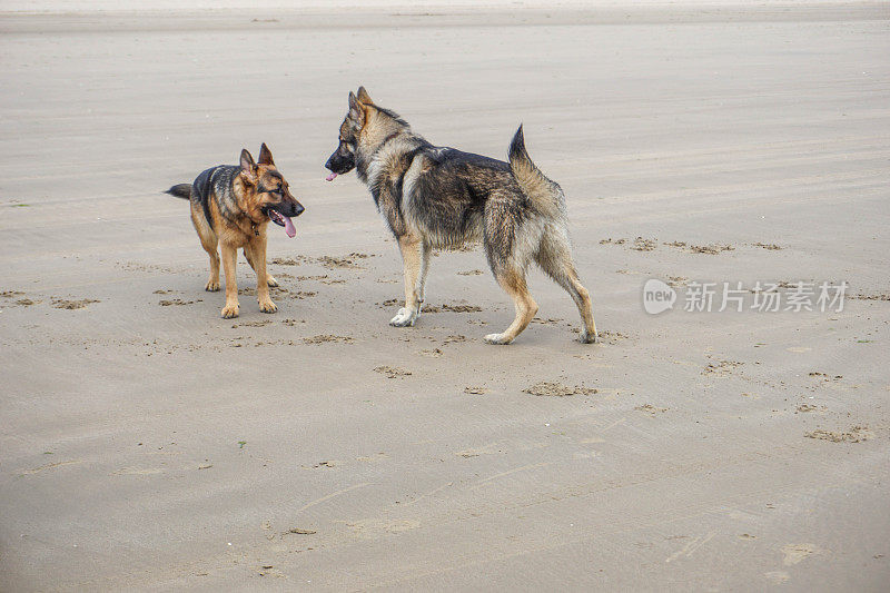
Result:
[[[510,162],[437,147],[376,106],[362,87],[349,92],[338,141],[325,164],[327,180],[355,168],[402,250],[405,307],[390,325],[414,325],[419,315],[431,249],[482,241],[492,273],[516,306],[510,327],[485,336],[487,343],[510,344],[537,313],[525,284],[533,260],[577,305],[581,342],[597,342],[591,297],[572,263],[565,197],[528,158],[522,126]]]

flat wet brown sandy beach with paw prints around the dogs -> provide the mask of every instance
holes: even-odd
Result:
[[[886,3],[18,4],[0,590],[884,590]],[[504,159],[524,125],[602,344],[538,270],[484,344],[513,306],[481,250],[387,325],[397,246],[323,168],[359,85],[437,145]],[[306,213],[269,230],[278,313],[241,257],[222,319],[161,191],[260,142]],[[704,283],[744,310],[684,310]],[[764,312],[758,283],[848,288]]]

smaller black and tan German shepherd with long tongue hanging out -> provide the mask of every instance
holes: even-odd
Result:
[[[219,165],[201,172],[195,181],[179,184],[166,191],[191,202],[191,223],[201,246],[210,255],[210,279],[206,290],[219,290],[219,255],[226,270],[226,306],[222,317],[238,316],[238,285],[235,264],[238,248],[244,249],[250,267],[257,273],[257,302],[263,313],[275,313],[278,307],[269,298],[269,286],[278,283],[266,273],[266,227],[269,220],[285,227],[288,237],[297,234],[294,216],[303,214],[303,205],[290,195],[287,181],[278,172],[271,151],[264,144],[259,160],[246,149],[241,150],[240,165]]]

